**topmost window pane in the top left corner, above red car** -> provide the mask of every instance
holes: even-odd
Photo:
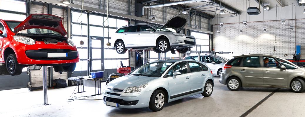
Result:
[[[12,7],[12,5],[13,5],[13,7]],[[3,10],[9,10],[9,11],[27,12],[24,1],[0,0],[0,8]]]

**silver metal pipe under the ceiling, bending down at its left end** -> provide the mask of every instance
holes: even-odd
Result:
[[[170,2],[170,3],[164,3],[164,4],[157,4],[157,5],[145,5],[145,6],[142,7],[142,16],[144,15],[144,9],[145,8],[156,8],[156,7],[179,5],[179,4],[193,3],[193,2],[203,2],[203,1],[210,1],[210,0],[185,0],[185,1],[177,1],[177,2]]]

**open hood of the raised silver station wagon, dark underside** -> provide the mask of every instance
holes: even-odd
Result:
[[[188,18],[189,16],[187,14],[179,14],[179,15],[175,15],[172,18],[170,18],[170,20],[168,20],[161,29],[165,29],[165,28],[172,28],[174,30],[176,30],[176,32],[180,32],[183,27],[186,25],[186,23],[188,22]],[[160,29],[160,30],[161,30]]]

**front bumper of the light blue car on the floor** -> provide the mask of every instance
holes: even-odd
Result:
[[[118,103],[119,108],[145,108],[149,106],[149,99],[152,92],[153,91],[123,93],[105,89],[102,96],[104,104],[106,104],[106,101],[109,101]]]

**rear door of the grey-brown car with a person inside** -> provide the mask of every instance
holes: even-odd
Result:
[[[244,57],[239,72],[242,74],[245,84],[264,85],[263,67],[260,67],[259,56]]]

